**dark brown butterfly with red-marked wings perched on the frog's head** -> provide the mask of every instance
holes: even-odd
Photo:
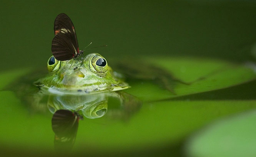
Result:
[[[65,13],[60,13],[54,21],[54,34],[52,40],[52,54],[59,61],[76,59],[83,55],[79,50],[75,27]]]

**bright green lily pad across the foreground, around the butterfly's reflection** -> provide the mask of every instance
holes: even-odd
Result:
[[[6,145],[53,150],[52,114],[30,114],[13,92],[0,92]],[[131,151],[175,144],[219,117],[256,108],[256,101],[161,101],[146,103],[129,121],[84,119],[79,122],[75,152]],[[18,131],[18,133],[17,133]],[[12,135],[12,136],[10,136]]]

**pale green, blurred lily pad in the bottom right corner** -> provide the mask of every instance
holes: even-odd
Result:
[[[254,157],[256,111],[214,122],[186,144],[189,157]]]

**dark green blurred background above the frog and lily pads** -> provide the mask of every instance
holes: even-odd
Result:
[[[206,56],[253,59],[256,2],[246,0],[1,1],[0,51],[5,69],[42,66],[51,55],[53,22],[73,21],[81,48],[112,56]],[[255,58],[254,58],[255,59]]]

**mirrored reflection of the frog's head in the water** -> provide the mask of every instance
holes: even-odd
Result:
[[[141,101],[125,92],[98,93],[89,95],[49,95],[47,107],[55,113],[60,109],[81,111],[89,119],[108,117],[128,119],[141,106]]]

